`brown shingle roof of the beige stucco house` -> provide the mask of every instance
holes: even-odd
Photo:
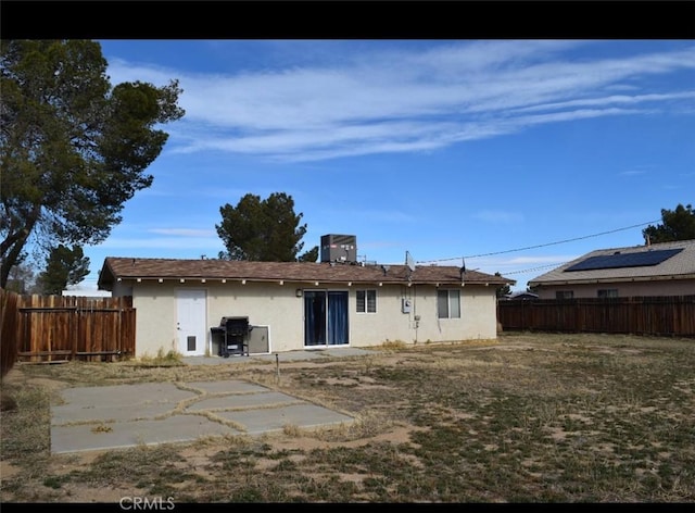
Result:
[[[109,256],[99,275],[99,288],[111,290],[116,279],[248,279],[251,281],[319,281],[325,284],[459,284],[457,266],[361,265],[328,262],[248,262],[227,260],[134,259]],[[466,284],[514,285],[515,280],[466,271]]]

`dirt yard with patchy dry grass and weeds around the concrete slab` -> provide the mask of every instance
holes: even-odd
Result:
[[[91,458],[50,453],[61,388],[216,380],[231,371],[20,366],[2,385],[18,409],[0,424],[0,460],[13,470],[0,499],[100,500],[116,489],[179,503],[695,502],[694,364],[692,339],[504,334],[302,362],[282,370],[281,386],[271,365],[238,366],[235,378],[357,420]]]

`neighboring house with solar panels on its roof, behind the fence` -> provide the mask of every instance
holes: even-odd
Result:
[[[528,285],[540,299],[695,295],[695,240],[592,251]]]

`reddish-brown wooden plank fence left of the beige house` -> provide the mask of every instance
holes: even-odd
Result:
[[[8,309],[2,317],[2,345],[14,343],[20,362],[114,361],[135,355],[136,310],[130,296],[24,295],[17,297],[14,313]],[[7,322],[14,329],[5,330]]]

